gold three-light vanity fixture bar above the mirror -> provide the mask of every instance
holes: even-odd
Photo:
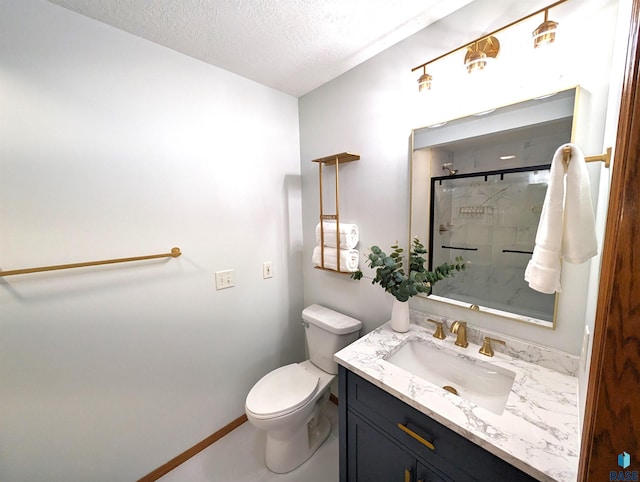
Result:
[[[500,42],[494,34],[506,30],[509,27],[512,27],[520,22],[530,19],[535,15],[539,15],[544,13],[544,21],[533,31],[533,46],[534,48],[541,47],[543,45],[552,44],[556,39],[556,31],[558,29],[558,22],[554,22],[553,20],[549,20],[549,10],[553,7],[560,5],[561,3],[566,2],[567,0],[559,0],[551,5],[547,5],[546,7],[537,10],[529,15],[526,15],[514,22],[511,22],[499,29],[496,29],[492,32],[489,32],[482,37],[479,37],[471,42],[467,42],[460,47],[456,47],[449,52],[446,52],[438,57],[435,57],[428,62],[420,64],[413,69],[411,72],[415,72],[416,70],[422,69],[422,75],[418,79],[418,90],[420,92],[424,92],[425,90],[431,90],[431,83],[433,81],[433,77],[427,74],[427,65],[432,64],[444,57],[447,57],[459,50],[465,49],[465,57],[464,57],[464,65],[467,68],[467,72],[477,72],[484,70],[488,63],[495,59],[500,51]]]

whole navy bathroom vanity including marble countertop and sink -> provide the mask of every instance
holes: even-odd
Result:
[[[426,325],[387,323],[336,353],[341,482],[574,481],[577,379]]]

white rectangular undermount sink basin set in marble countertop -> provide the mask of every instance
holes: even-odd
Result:
[[[504,411],[516,376],[491,362],[424,340],[407,341],[385,360],[497,415]]]

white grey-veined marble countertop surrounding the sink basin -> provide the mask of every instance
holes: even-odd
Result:
[[[579,459],[576,377],[477,344],[455,346],[455,336],[432,337],[433,327],[411,323],[397,333],[386,323],[335,355],[345,368],[539,480],[575,481]],[[496,415],[412,375],[384,357],[408,340],[424,340],[516,373],[504,412]],[[508,343],[508,342],[507,342]]]

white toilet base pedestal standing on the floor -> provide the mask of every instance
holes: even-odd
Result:
[[[331,423],[324,416],[311,419],[294,434],[267,432],[265,463],[276,474],[285,474],[305,463],[329,437]]]

